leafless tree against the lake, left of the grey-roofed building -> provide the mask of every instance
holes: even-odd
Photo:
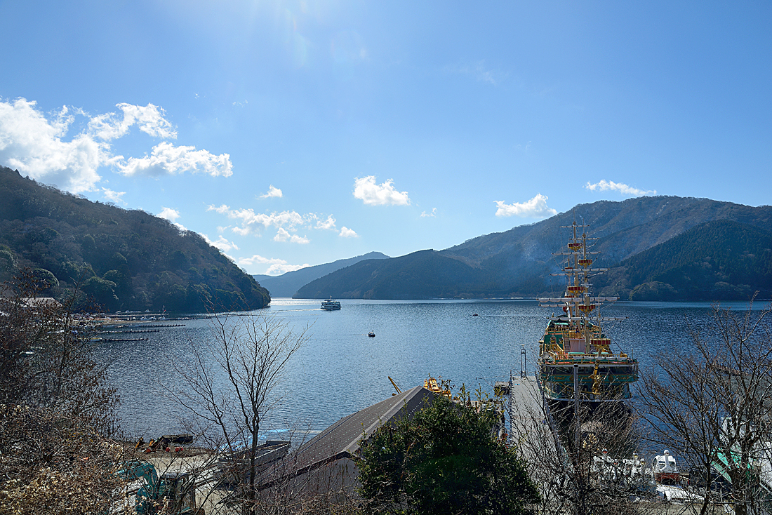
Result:
[[[262,313],[211,320],[216,337],[191,341],[189,364],[177,370],[185,387],[171,394],[222,452],[226,474],[238,477],[235,502],[242,512],[256,513],[262,423],[282,398],[280,381],[308,327],[296,332]]]

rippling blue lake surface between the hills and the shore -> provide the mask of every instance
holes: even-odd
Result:
[[[527,374],[533,375],[537,341],[553,310],[534,300],[340,303],[341,310],[327,312],[320,310],[320,300],[274,299],[269,308],[259,310],[296,330],[310,326],[309,341],[289,363],[283,400],[266,429],[324,429],[391,396],[394,388],[388,376],[403,389],[423,385],[431,374],[456,387],[464,383],[493,393],[495,381],[508,380],[510,371],[520,375],[523,346]],[[758,302],[754,309],[763,306]],[[742,311],[747,304],[722,307]],[[606,323],[606,332],[612,347],[638,357],[643,370],[659,352],[688,351],[689,328],[706,327],[710,312],[709,303],[618,302],[604,308],[602,315],[628,317]],[[370,330],[376,337],[367,337]],[[185,327],[147,334],[149,341],[102,344],[100,359],[111,363],[110,377],[120,392],[127,432],[155,437],[180,430],[180,417],[188,413],[164,395],[164,388],[181,385],[174,366],[189,360],[191,341],[213,336],[208,320],[185,320]]]

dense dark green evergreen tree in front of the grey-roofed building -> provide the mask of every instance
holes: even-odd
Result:
[[[381,512],[529,513],[539,492],[496,418],[438,397],[384,425],[362,447],[361,495]]]

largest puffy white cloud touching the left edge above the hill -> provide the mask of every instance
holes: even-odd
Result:
[[[97,168],[110,162],[110,146],[89,134],[62,141],[73,120],[66,107],[49,120],[34,101],[0,100],[0,162],[73,193],[93,190],[101,179]]]

